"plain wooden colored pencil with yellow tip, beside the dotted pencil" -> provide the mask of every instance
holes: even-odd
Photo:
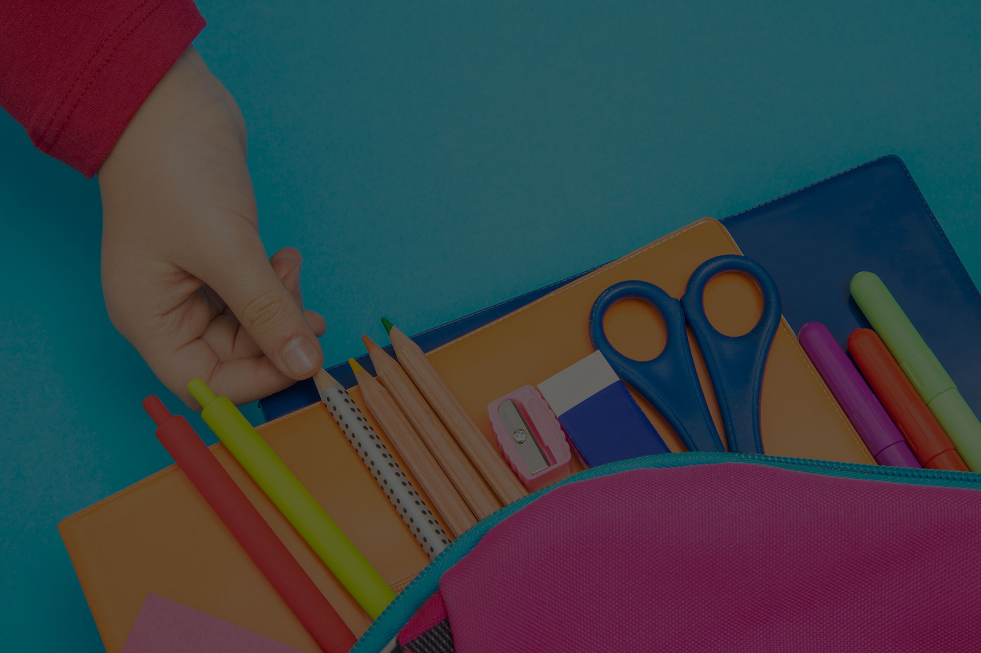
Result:
[[[361,388],[361,396],[364,397],[368,410],[385,430],[392,446],[405,461],[412,475],[426,490],[445,526],[454,535],[459,535],[477,524],[466,502],[439,468],[439,463],[426,448],[419,433],[409,424],[409,420],[398,408],[398,404],[387,389],[375,377],[365,372],[354,359],[348,363],[354,371],[354,377],[358,380],[358,387]]]

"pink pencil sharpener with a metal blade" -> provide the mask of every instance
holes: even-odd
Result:
[[[488,413],[501,453],[530,491],[569,473],[572,453],[565,431],[535,386],[491,401]]]

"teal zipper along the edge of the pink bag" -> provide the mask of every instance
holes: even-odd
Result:
[[[422,605],[439,589],[439,578],[450,567],[455,565],[477,545],[490,528],[503,522],[529,503],[537,500],[547,492],[566,485],[610,474],[619,474],[631,470],[656,469],[669,467],[688,467],[691,465],[717,465],[719,463],[748,463],[766,465],[786,470],[806,471],[812,474],[822,474],[831,477],[868,478],[879,477],[890,482],[911,483],[917,485],[932,485],[942,487],[962,487],[970,489],[981,488],[981,474],[970,472],[947,472],[944,470],[909,469],[901,467],[886,467],[882,465],[856,465],[853,463],[834,463],[807,458],[788,458],[785,456],[767,456],[764,454],[744,454],[725,452],[691,452],[668,453],[658,456],[645,456],[632,460],[600,465],[585,470],[553,485],[543,487],[538,492],[515,501],[501,508],[494,514],[471,527],[443,549],[426,568],[413,578],[395,600],[388,604],[385,611],[375,623],[369,627],[351,653],[379,653],[398,630],[405,626],[409,619]],[[804,469],[801,469],[804,468]]]

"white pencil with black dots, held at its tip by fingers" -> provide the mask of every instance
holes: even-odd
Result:
[[[436,558],[449,544],[447,535],[436,516],[429,511],[426,502],[402,473],[375,429],[361,414],[344,386],[334,377],[321,370],[313,376],[320,400],[324,402],[337,427],[354,447],[368,471],[375,477],[388,501],[415,536],[419,546],[430,557]]]

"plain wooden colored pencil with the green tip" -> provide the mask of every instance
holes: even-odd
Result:
[[[526,496],[528,491],[525,486],[514,476],[481,429],[470,419],[460,400],[439,376],[422,348],[384,318],[382,323],[388,330],[398,362],[415,381],[442,423],[470,457],[470,461],[488,481],[497,498],[506,506]]]

